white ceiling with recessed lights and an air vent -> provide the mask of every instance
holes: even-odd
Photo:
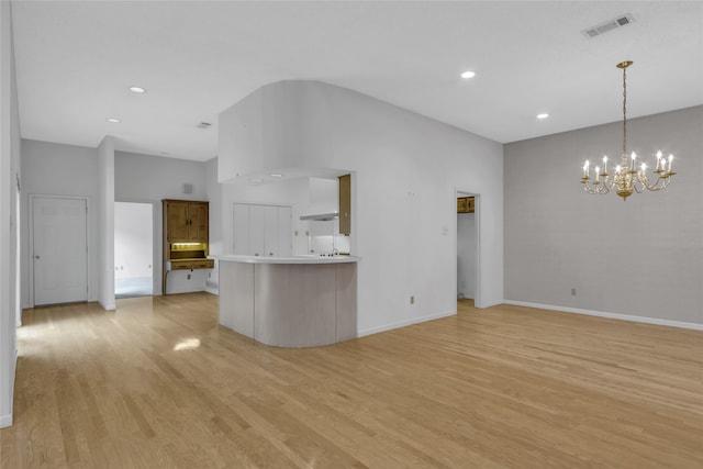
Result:
[[[111,134],[120,150],[208,160],[220,112],[304,79],[506,143],[621,120],[625,59],[628,118],[703,104],[698,1],[11,4],[24,138],[96,147]],[[580,32],[624,13],[635,22]]]

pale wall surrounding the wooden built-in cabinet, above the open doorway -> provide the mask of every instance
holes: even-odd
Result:
[[[126,152],[115,152],[114,161],[115,200],[153,203],[154,292],[160,292],[164,259],[161,199],[208,200],[207,164]],[[192,193],[183,193],[185,183],[192,185]],[[210,232],[213,232],[212,226]],[[168,273],[168,291],[203,291],[209,272],[210,269],[171,271]]]

